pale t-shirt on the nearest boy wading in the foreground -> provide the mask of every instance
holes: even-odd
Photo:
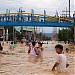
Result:
[[[59,63],[59,65],[57,66],[57,71],[66,72],[67,59],[64,54],[58,54],[57,63]]]

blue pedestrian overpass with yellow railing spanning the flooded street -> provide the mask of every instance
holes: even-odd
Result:
[[[38,27],[71,27],[73,25],[73,17],[49,16],[44,10],[44,14],[35,14],[22,11],[0,14],[0,26],[38,26]]]

